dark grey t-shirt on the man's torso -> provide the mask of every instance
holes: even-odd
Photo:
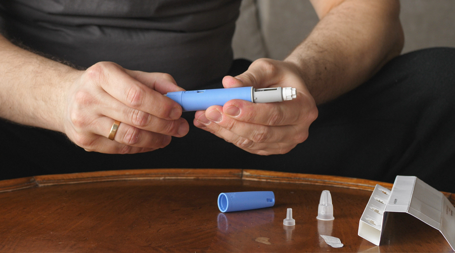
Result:
[[[185,89],[225,75],[240,0],[9,0],[0,3],[6,35],[89,67],[171,74]]]

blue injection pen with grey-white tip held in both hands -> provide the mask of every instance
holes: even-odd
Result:
[[[166,96],[177,102],[183,111],[201,111],[212,105],[223,106],[231,99],[243,99],[253,103],[272,103],[296,98],[296,90],[291,87],[254,89],[239,87],[185,92],[169,92]]]

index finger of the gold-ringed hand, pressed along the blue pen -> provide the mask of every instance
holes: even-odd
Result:
[[[97,63],[86,70],[86,76],[128,107],[164,119],[177,119],[181,116],[180,105],[131,77],[118,65]],[[173,85],[172,82],[169,84]]]

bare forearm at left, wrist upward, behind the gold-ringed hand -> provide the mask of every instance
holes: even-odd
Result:
[[[78,70],[21,49],[0,35],[0,117],[62,131],[66,91]]]

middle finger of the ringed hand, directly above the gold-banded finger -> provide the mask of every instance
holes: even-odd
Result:
[[[183,137],[188,134],[190,126],[183,118],[167,120],[150,113],[130,108],[109,96],[101,95],[104,103],[100,104],[100,112],[109,118],[115,118],[136,128],[163,135]]]

